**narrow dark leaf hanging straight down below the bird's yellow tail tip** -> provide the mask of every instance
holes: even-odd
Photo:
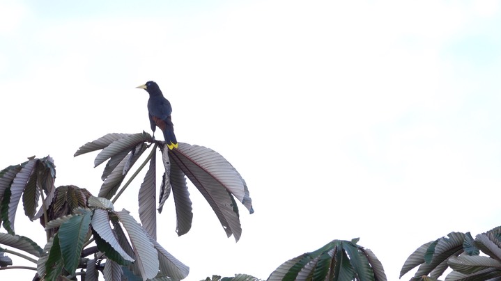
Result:
[[[192,227],[193,211],[185,174],[176,162],[171,162],[171,186],[176,206],[176,232],[181,236],[189,232]]]

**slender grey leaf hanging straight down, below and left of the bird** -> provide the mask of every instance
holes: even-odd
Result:
[[[155,150],[155,147],[153,147]],[[155,161],[156,156],[150,159],[150,168],[144,176],[144,181],[139,188],[138,201],[139,201],[139,219],[144,229],[150,234],[154,239],[157,239],[157,210],[155,198]]]

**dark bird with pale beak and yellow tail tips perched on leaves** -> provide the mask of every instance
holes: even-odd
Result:
[[[169,150],[178,148],[178,140],[176,140],[174,124],[172,124],[171,120],[172,106],[164,95],[162,95],[160,87],[154,81],[148,81],[136,88],[144,89],[150,94],[150,98],[148,99],[148,118],[150,119],[153,138],[155,138],[155,129],[159,127],[164,133],[164,140]]]

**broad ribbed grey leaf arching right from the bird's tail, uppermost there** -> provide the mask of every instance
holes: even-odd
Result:
[[[219,185],[226,188],[240,202],[252,202],[249,198],[247,186],[242,179],[242,176],[237,172],[231,163],[224,159],[221,154],[210,150],[207,147],[199,145],[189,145],[187,143],[179,143],[178,149],[170,150],[171,154],[176,156],[176,159],[183,159],[196,164],[192,170],[197,176],[204,176],[210,180],[213,185]],[[183,163],[186,163],[183,161]],[[179,163],[178,163],[179,164]],[[180,166],[183,171],[183,166]],[[196,172],[195,172],[196,171]],[[185,175],[188,175],[185,172]],[[189,176],[188,176],[189,177]],[[252,210],[252,205],[244,204],[249,211]]]

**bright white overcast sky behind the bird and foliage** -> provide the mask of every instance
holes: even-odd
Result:
[[[159,241],[187,280],[265,279],[354,237],[397,280],[423,243],[501,224],[498,1],[208,2],[0,0],[0,168],[50,154],[57,186],[97,194],[104,166],[73,153],[149,132],[134,87],[155,80],[178,140],[225,156],[256,210],[240,204],[235,243],[190,188],[193,227],[177,237],[169,198]],[[116,209],[137,213],[141,182]],[[16,230],[45,244],[22,210]]]

